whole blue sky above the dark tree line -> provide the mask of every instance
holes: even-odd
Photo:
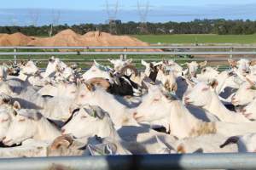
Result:
[[[147,1],[150,4],[147,20],[152,22],[217,18],[256,20],[256,0],[139,0],[142,5]],[[116,0],[108,2],[111,8]],[[59,24],[103,23],[108,20],[106,0],[4,0],[0,5],[0,26],[29,25],[35,13],[38,14],[38,25],[52,22],[53,13],[60,13]],[[137,0],[119,0],[116,18],[141,20]]]

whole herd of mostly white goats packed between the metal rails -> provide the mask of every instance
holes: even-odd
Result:
[[[0,157],[256,151],[256,61],[0,66]]]

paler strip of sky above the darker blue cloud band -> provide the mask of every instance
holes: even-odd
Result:
[[[116,0],[108,0],[115,3]],[[212,6],[236,4],[252,4],[255,0],[139,0],[141,3],[150,3],[151,8],[172,6]],[[61,9],[90,9],[98,10],[105,8],[106,0],[7,0],[1,2],[1,8],[61,8]],[[137,0],[119,0],[119,8],[137,8]]]

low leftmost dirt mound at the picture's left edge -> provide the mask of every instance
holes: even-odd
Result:
[[[26,46],[31,41],[32,37],[27,37],[20,32],[0,35],[1,46]]]

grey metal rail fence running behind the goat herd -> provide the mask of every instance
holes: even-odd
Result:
[[[207,49],[207,51],[194,51],[196,49]],[[116,46],[116,47],[95,47],[95,46],[88,46],[88,47],[0,47],[0,49],[13,49],[13,52],[1,52],[1,56],[14,56],[14,61],[17,61],[17,56],[31,56],[31,55],[120,55],[121,59],[127,57],[127,55],[147,55],[147,56],[156,56],[156,55],[224,55],[228,56],[227,58],[214,58],[208,59],[204,58],[205,60],[224,60],[233,58],[234,55],[256,55],[256,46],[149,46],[149,47],[132,47],[132,46]],[[68,49],[68,50],[85,50],[85,51],[43,51],[43,52],[19,52],[20,49]],[[90,51],[90,50],[120,50],[120,51]],[[136,50],[136,49],[161,49],[163,51],[127,51],[129,49]],[[187,51],[178,51],[178,50],[187,50]],[[189,51],[188,51],[189,49]],[[211,51],[213,49],[222,49],[219,51]],[[228,49],[228,50],[227,50]],[[239,51],[235,51],[235,50]],[[241,49],[247,49],[250,51],[240,51]],[[167,50],[167,51],[166,51]],[[191,51],[192,50],[192,51]],[[252,57],[249,57],[252,58]],[[146,58],[147,59],[147,58]],[[152,58],[150,58],[152,60]],[[160,59],[158,57],[154,58],[155,60]],[[5,59],[1,59],[5,60]],[[8,60],[8,59],[6,59]],[[44,60],[44,59],[38,59]],[[73,59],[68,59],[72,61]],[[78,60],[78,59],[76,59]],[[101,60],[101,59],[98,59]],[[103,60],[103,59],[102,59]],[[175,58],[175,60],[202,60],[202,59],[183,59],[183,58]],[[84,61],[84,59],[81,59]]]

